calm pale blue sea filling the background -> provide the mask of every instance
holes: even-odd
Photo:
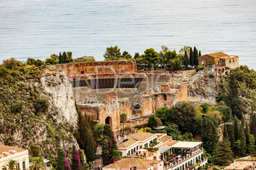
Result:
[[[134,55],[164,45],[225,51],[256,70],[255,9],[255,0],[0,0],[0,63],[60,51],[103,60],[110,46]]]

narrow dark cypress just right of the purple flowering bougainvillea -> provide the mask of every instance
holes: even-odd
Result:
[[[90,162],[96,160],[95,152],[94,152],[94,138],[92,136],[92,131],[89,130],[87,133],[87,145],[86,145],[86,158]]]

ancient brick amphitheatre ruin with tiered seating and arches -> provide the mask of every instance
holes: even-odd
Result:
[[[127,114],[125,125],[134,127],[146,124],[157,108],[188,101],[187,82],[181,76],[137,70],[135,60],[66,63],[55,68],[69,77],[80,112],[97,123],[110,124],[115,134],[122,129],[122,113]]]

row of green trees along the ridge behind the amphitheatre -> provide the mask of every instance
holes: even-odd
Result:
[[[106,48],[106,53],[103,55],[106,61],[109,60],[136,60],[137,65],[143,69],[148,67],[148,70],[156,67],[162,67],[166,70],[180,70],[182,65],[191,67],[199,65],[198,57],[201,56],[201,51],[197,51],[196,47],[194,47],[194,51],[189,46],[184,46],[180,49],[180,53],[177,54],[175,49],[173,51],[169,50],[166,46],[162,46],[162,51],[157,53],[153,48],[148,48],[144,51],[144,54],[139,55],[139,53],[135,53],[134,57],[127,52],[121,55],[120,49],[118,46],[111,46]]]

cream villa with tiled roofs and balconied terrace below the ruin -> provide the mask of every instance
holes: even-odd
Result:
[[[200,169],[207,164],[202,142],[176,141],[166,134],[132,133],[118,143],[122,156],[150,160],[162,160],[163,169]]]

